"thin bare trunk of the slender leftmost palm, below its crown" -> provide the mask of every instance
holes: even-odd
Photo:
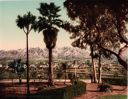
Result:
[[[29,90],[29,54],[28,54],[28,34],[26,34],[26,54],[27,54],[27,95],[30,94]]]

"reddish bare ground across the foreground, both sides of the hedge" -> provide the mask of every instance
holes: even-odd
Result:
[[[68,83],[69,84],[69,83]],[[13,86],[13,87],[12,87]],[[60,82],[60,83],[56,83],[55,87],[64,87],[64,83]],[[97,89],[98,84],[94,84],[94,83],[87,83],[87,91],[78,97],[75,97],[74,99],[97,99],[99,96],[105,96],[105,95],[127,95],[127,86],[115,86],[113,85],[113,92],[99,92]],[[38,91],[40,91],[40,89],[46,87],[45,83],[42,82],[36,82],[36,83],[30,83],[30,90],[31,93],[36,93]],[[12,83],[0,83],[0,96],[1,97],[5,97],[5,96],[9,96],[9,95],[23,95],[26,93],[26,84],[23,83],[21,85],[14,84],[12,85]],[[0,98],[2,99],[2,98]],[[3,98],[4,99],[4,98]]]

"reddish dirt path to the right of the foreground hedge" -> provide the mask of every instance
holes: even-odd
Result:
[[[97,84],[88,83],[87,92],[81,96],[75,97],[74,99],[97,99],[100,96],[105,95],[127,95],[128,88],[127,86],[112,86],[113,92],[98,92]]]

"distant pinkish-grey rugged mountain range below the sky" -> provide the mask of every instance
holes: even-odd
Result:
[[[29,49],[29,57],[30,59],[47,59],[48,58],[48,50],[41,48],[30,48]],[[85,50],[81,50],[78,48],[72,47],[62,47],[55,48],[53,50],[53,58],[54,59],[84,59],[89,58],[89,52]],[[18,50],[9,50],[4,51],[0,50],[0,59],[17,59],[26,58],[26,49],[18,49]]]

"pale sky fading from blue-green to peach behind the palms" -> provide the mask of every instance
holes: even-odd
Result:
[[[0,50],[13,50],[26,47],[26,36],[23,30],[16,26],[17,15],[31,12],[39,16],[37,8],[41,2],[54,2],[61,6],[61,19],[70,20],[66,9],[63,7],[64,0],[0,0]],[[56,47],[71,46],[70,35],[63,29],[58,33]],[[29,47],[45,48],[42,33],[31,31],[29,34]]]

